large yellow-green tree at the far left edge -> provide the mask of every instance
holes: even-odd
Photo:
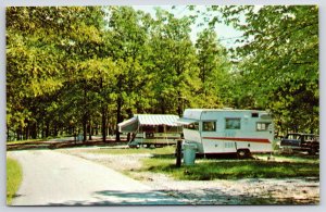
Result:
[[[60,26],[51,15],[49,8],[7,9],[7,121],[18,138],[25,130],[27,139],[36,123],[32,105],[39,104],[37,97],[51,95],[63,84],[63,54],[53,39]]]

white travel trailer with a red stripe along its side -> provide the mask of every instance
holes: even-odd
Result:
[[[197,145],[198,154],[244,158],[252,152],[272,152],[274,125],[266,111],[186,109],[177,123],[184,126],[185,141]]]

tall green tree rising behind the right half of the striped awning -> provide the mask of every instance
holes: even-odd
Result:
[[[200,87],[196,49],[190,40],[191,21],[177,18],[163,10],[156,11],[151,32],[151,60],[154,102],[159,113],[181,115],[183,109],[196,102],[192,92]]]

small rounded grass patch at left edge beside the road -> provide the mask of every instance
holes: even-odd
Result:
[[[17,161],[7,158],[7,204],[11,204],[22,183],[22,167]]]

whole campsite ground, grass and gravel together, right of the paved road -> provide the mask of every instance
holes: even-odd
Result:
[[[240,160],[235,155],[215,159],[199,158],[196,159],[195,165],[183,164],[181,167],[177,167],[175,145],[129,148],[127,144],[127,141],[111,145],[95,142],[91,146],[79,148],[70,146],[51,151],[74,155],[112,169],[186,204],[316,204],[319,202],[318,155],[275,151],[273,154],[258,153],[254,158]],[[43,150],[22,151],[30,151],[35,154]],[[9,155],[12,155],[11,152]],[[130,201],[124,200],[124,202]],[[134,203],[141,202],[138,200]],[[121,203],[124,204],[123,202],[118,204]],[[155,203],[160,204],[160,202]],[[173,201],[173,204],[179,203]],[[64,203],[64,205],[73,204],[73,201]],[[84,201],[80,205],[88,205],[88,203]]]

